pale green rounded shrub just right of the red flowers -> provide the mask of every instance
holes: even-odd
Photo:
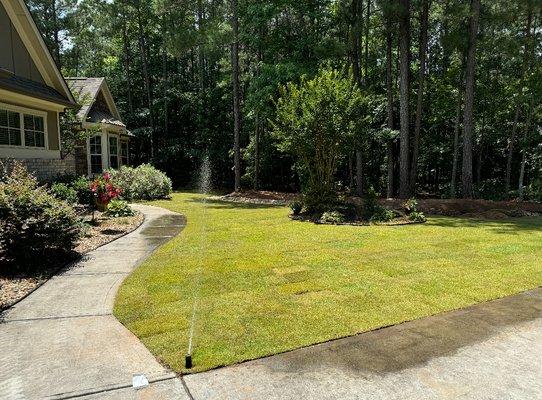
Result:
[[[137,168],[122,166],[111,170],[111,182],[122,188],[125,200],[154,200],[167,198],[171,194],[171,179],[150,164]]]

